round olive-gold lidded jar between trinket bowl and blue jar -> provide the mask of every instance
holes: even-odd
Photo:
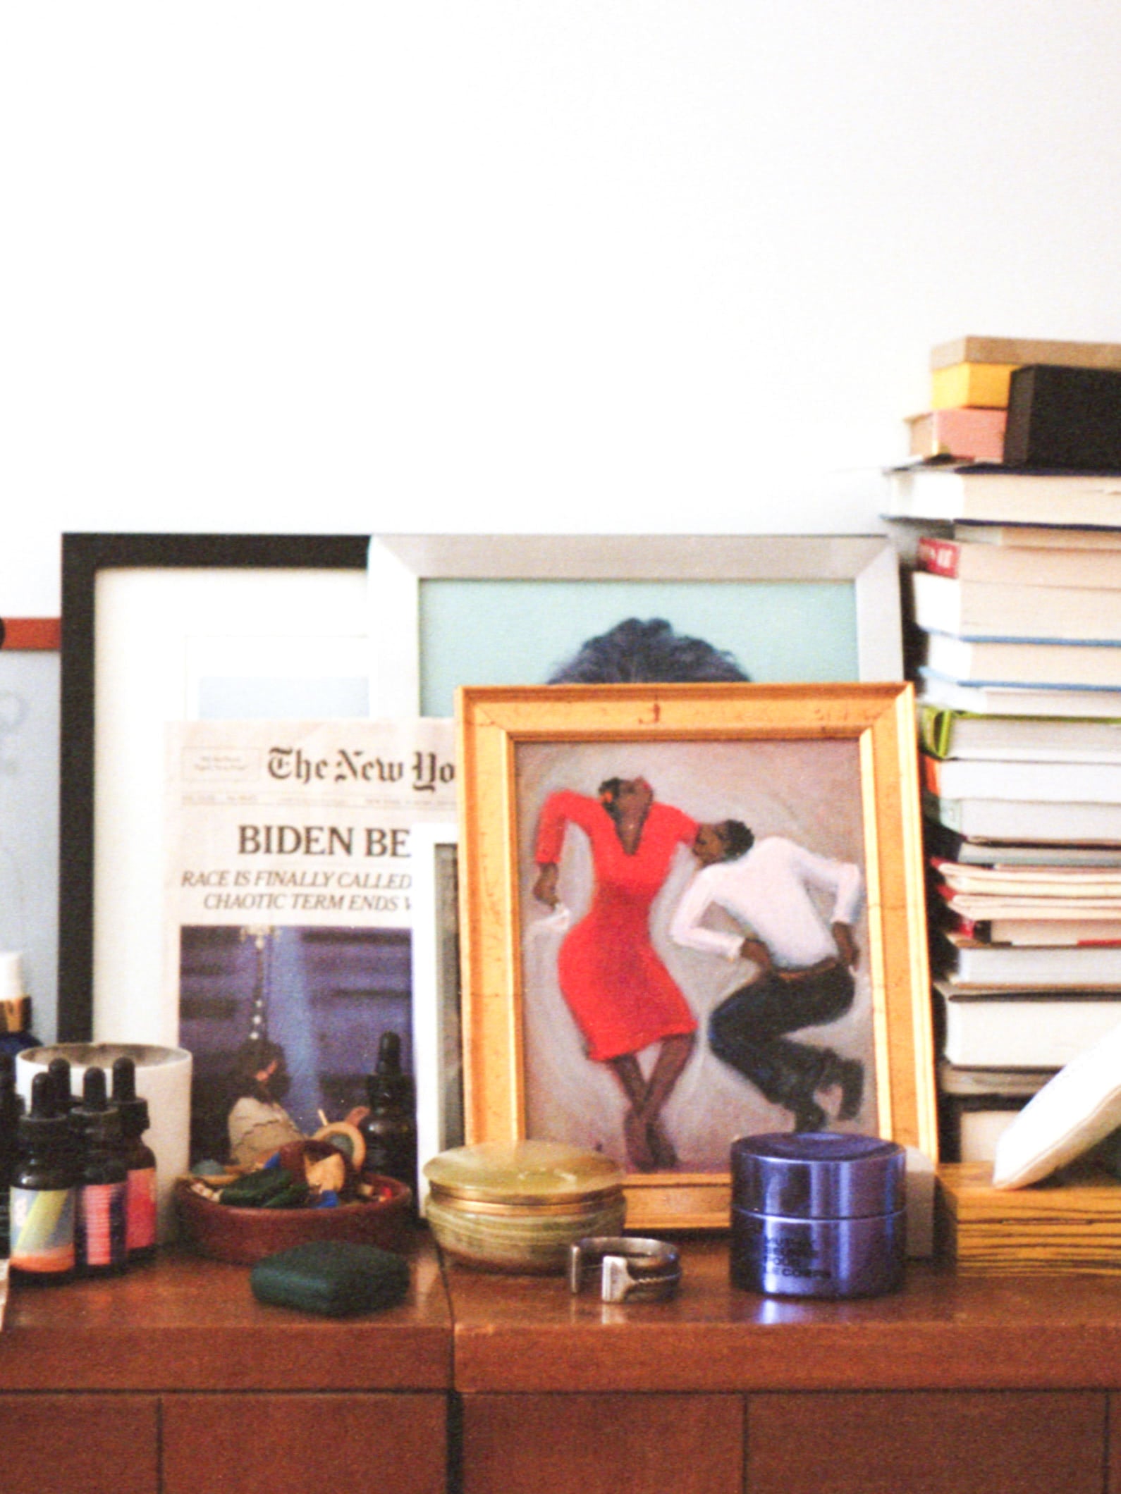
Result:
[[[623,1171],[560,1141],[481,1141],[424,1167],[424,1218],[438,1245],[499,1271],[562,1273],[584,1236],[619,1234]]]

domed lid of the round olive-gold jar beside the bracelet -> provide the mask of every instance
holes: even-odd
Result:
[[[424,1165],[424,1177],[444,1198],[547,1206],[616,1192],[625,1174],[599,1152],[531,1140],[453,1147]]]

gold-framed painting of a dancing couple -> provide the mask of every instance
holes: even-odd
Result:
[[[936,1152],[910,686],[463,689],[468,1140],[728,1222],[761,1131]]]

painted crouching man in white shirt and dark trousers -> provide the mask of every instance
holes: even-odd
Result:
[[[701,871],[674,913],[677,944],[747,959],[755,974],[708,1019],[713,1053],[794,1116],[795,1131],[819,1131],[827,1113],[819,1091],[840,1088],[837,1118],[853,1119],[864,1065],[833,1049],[786,1037],[836,1022],[852,1005],[859,950],[853,922],[864,890],[859,867],[830,861],[782,835],[756,841],[740,820],[702,825],[694,843]],[[822,917],[815,893],[833,899]],[[731,914],[747,935],[704,928],[710,907]]]

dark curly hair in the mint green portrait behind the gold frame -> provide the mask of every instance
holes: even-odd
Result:
[[[680,684],[691,680],[750,680],[726,648],[685,638],[664,617],[628,617],[589,638],[560,665],[550,684]]]

